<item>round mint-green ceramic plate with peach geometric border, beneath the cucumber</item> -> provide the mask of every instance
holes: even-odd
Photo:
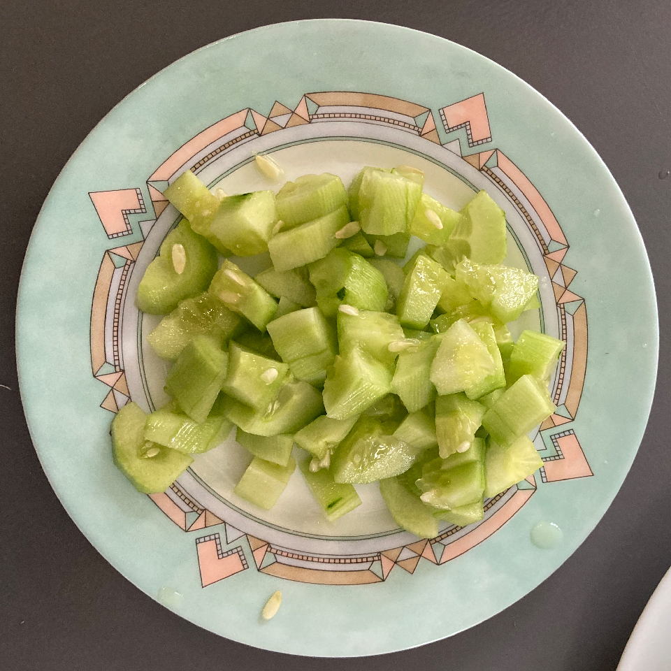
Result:
[[[110,458],[113,413],[164,401],[134,295],[178,219],[161,192],[187,169],[228,193],[412,164],[459,209],[486,189],[505,210],[511,264],[540,275],[526,326],[566,341],[532,434],[535,477],[480,524],[431,541],[398,530],[375,485],[336,524],[300,473],[273,510],[236,498],[248,456],[229,439],[165,493],[143,496]],[[249,261],[247,261],[249,263]],[[245,266],[253,270],[250,266]],[[261,648],[354,656],[452,635],[514,603],[576,549],[619,489],[654,389],[657,319],[642,239],[575,127],[482,56],[409,29],[294,22],[227,38],[166,68],[92,131],[30,241],[17,315],[22,398],[44,470],[83,533],[123,575],[190,621]],[[563,537],[541,549],[538,523]],[[559,535],[559,534],[558,534]],[[546,546],[549,543],[540,542]],[[282,607],[261,607],[275,590]]]

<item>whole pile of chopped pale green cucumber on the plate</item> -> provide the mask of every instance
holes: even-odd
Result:
[[[500,265],[505,214],[486,192],[454,212],[423,186],[400,166],[363,168],[349,192],[331,174],[277,194],[219,198],[190,171],[168,187],[185,218],[136,303],[165,315],[147,340],[172,400],[112,423],[139,491],[164,491],[234,424],[252,455],[237,496],[270,509],[298,461],[329,520],[379,481],[396,523],[431,538],[542,466],[527,434],[556,409],[563,342],[506,326],[539,306],[537,277]],[[426,246],[401,268],[410,236]],[[256,277],[219,267],[266,252]]]

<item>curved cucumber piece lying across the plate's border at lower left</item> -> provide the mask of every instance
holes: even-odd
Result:
[[[138,491],[152,494],[166,491],[194,460],[175,449],[147,443],[146,419],[136,403],[127,403],[117,412],[112,420],[112,457]]]

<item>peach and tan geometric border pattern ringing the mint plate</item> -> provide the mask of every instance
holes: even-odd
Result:
[[[460,137],[460,134],[463,131],[466,131],[468,147],[491,142],[484,94],[479,93],[440,108],[439,115],[442,121],[440,131],[429,108],[389,96],[360,92],[308,93],[294,108],[275,101],[267,116],[251,108],[240,110],[188,140],[150,175],[146,187],[154,217],[159,217],[168,205],[161,193],[166,183],[185,169],[200,169],[241,143],[304,124],[356,121],[394,127],[453,152],[465,164],[485,175],[524,217],[542,251],[554,290],[560,337],[565,340],[566,347],[553,390],[558,408],[540,427],[540,445],[539,440],[535,441],[544,461],[540,469],[542,482],[593,475],[575,432],[566,428],[556,432],[556,427],[569,423],[576,416],[587,362],[585,303],[569,289],[576,270],[563,264],[568,242],[549,205],[503,152],[490,149],[465,156],[462,154],[463,136]],[[278,141],[280,143],[281,140]],[[146,212],[140,189],[92,192],[90,196],[109,238],[130,234],[132,226],[128,215]],[[136,232],[145,238],[154,222],[155,219],[139,222]],[[105,252],[94,289],[92,372],[96,379],[110,387],[101,407],[112,412],[117,412],[129,400],[120,348],[121,306],[127,278],[142,245],[143,241],[140,241]],[[203,587],[246,570],[246,556],[250,554],[261,573],[298,582],[352,585],[383,582],[396,566],[413,573],[421,559],[440,565],[460,556],[503,526],[533,496],[536,486],[535,477],[531,476],[486,501],[485,517],[478,524],[468,528],[449,526],[432,540],[418,540],[361,556],[306,554],[278,547],[274,542],[240,531],[220,519],[192,500],[176,482],[166,492],[152,494],[150,498],[185,532],[222,526],[227,546],[243,542],[224,549],[220,533],[196,538]]]

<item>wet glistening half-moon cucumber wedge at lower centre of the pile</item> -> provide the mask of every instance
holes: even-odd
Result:
[[[362,415],[331,459],[335,482],[366,484],[405,472],[416,458],[405,442],[386,433],[389,423]]]

